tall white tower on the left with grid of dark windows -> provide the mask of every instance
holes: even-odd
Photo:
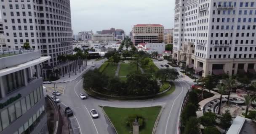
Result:
[[[47,69],[60,70],[58,55],[72,54],[69,0],[1,0],[0,5],[6,46],[29,42],[42,56],[51,56],[44,62]]]

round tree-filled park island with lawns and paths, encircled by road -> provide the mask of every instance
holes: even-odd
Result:
[[[174,69],[158,69],[149,54],[134,52],[123,57],[108,52],[101,67],[83,75],[83,88],[94,97],[114,100],[143,100],[168,95],[175,90],[169,80],[177,78]]]

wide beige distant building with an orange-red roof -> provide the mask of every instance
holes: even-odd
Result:
[[[133,26],[133,44],[163,43],[164,27],[160,24],[137,24]]]

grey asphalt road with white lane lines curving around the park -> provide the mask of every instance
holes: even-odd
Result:
[[[102,61],[104,60],[94,62],[97,68],[101,66]],[[163,61],[154,60],[154,62],[157,67],[165,68],[160,66]],[[78,126],[73,128],[78,132],[76,134],[115,134],[99,105],[125,108],[161,105],[163,106],[163,112],[157,125],[156,134],[177,134],[181,103],[192,83],[179,78],[174,81],[174,84],[176,85],[176,90],[171,95],[144,101],[106,101],[88,95],[86,95],[88,97],[86,100],[81,100],[79,93],[85,93],[82,76],[72,82],[56,85],[62,87],[63,94],[58,97],[61,100],[61,104],[69,106],[74,111],[74,117],[71,118],[72,121],[75,119],[78,122]],[[53,84],[45,84],[44,86],[53,86]],[[91,109],[96,109],[99,113],[98,119],[91,118]]]

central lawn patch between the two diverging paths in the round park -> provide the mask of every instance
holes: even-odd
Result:
[[[138,68],[138,70],[139,70],[139,68]],[[133,72],[137,72],[137,67],[136,67],[135,64],[121,63],[118,76],[126,76],[128,74],[133,73]],[[141,71],[139,70],[139,73],[140,72]]]

